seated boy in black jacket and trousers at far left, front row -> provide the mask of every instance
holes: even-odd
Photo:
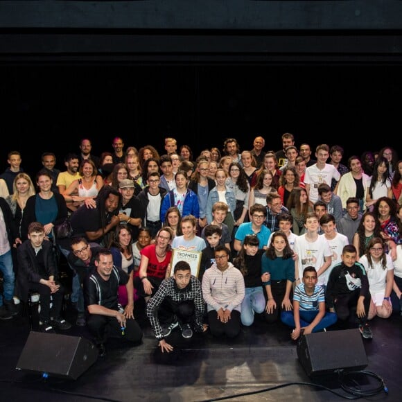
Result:
[[[45,236],[42,223],[30,222],[28,240],[17,248],[18,281],[22,300],[28,299],[29,290],[40,293],[40,331],[54,333],[53,327],[66,330],[71,324],[60,316],[64,291],[58,282],[53,243],[44,241]]]

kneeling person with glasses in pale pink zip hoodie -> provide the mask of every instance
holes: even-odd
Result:
[[[229,254],[227,247],[216,247],[216,262],[202,277],[202,295],[207,303],[211,334],[234,338],[241,329],[241,303],[245,297],[245,283],[240,270],[229,262]]]

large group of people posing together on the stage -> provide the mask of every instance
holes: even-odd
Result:
[[[352,155],[341,146],[241,152],[228,138],[198,157],[188,145],[80,152],[55,168],[44,152],[31,177],[18,151],[0,175],[0,320],[40,294],[40,331],[65,331],[60,258],[72,270],[76,325],[100,355],[108,336],[141,343],[134,303],[162,352],[171,332],[236,337],[259,316],[291,338],[402,311],[402,160],[386,146]],[[66,222],[69,234],[56,230]],[[181,254],[180,254],[181,252]],[[180,255],[191,255],[187,261]],[[402,313],[401,313],[402,314]]]

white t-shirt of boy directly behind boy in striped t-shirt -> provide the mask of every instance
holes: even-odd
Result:
[[[298,278],[303,277],[304,268],[313,266],[317,271],[325,262],[324,256],[332,256],[329,243],[323,236],[318,236],[316,241],[309,242],[306,240],[306,234],[302,234],[296,238],[294,251],[297,254]],[[326,274],[324,272],[318,277],[317,285],[325,285],[325,280]]]

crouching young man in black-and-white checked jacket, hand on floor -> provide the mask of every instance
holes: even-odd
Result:
[[[164,317],[169,316],[171,325],[162,329],[159,324],[159,315],[163,310]],[[164,279],[159,289],[150,298],[146,314],[150,320],[152,331],[159,340],[159,347],[164,351],[173,351],[173,346],[168,344],[165,337],[172,329],[180,326],[183,338],[191,338],[193,329],[196,332],[207,331],[207,324],[202,324],[204,315],[204,299],[202,299],[201,283],[191,275],[191,268],[186,261],[178,261],[174,268],[173,277]]]

